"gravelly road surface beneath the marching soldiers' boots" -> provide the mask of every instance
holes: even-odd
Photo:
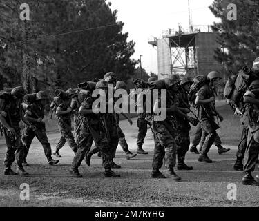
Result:
[[[122,121],[121,126],[131,151],[136,152],[136,119],[133,126]],[[59,140],[59,133],[49,136],[52,149]],[[84,178],[72,177],[68,171],[73,160],[73,152],[68,145],[61,149],[63,156],[57,166],[48,166],[44,151],[34,140],[26,170],[28,177],[4,176],[3,164],[0,164],[0,206],[259,206],[258,187],[242,186],[242,172],[233,171],[236,146],[231,151],[218,155],[215,146],[209,156],[213,164],[197,161],[197,155],[188,153],[186,163],[193,166],[193,171],[176,171],[182,182],[170,179],[151,179],[153,157],[153,137],[151,131],[145,140],[144,149],[148,155],[137,155],[133,160],[126,160],[122,148],[117,148],[115,162],[122,169],[115,170],[122,175],[118,179],[104,178],[102,162],[97,155],[92,165],[85,162],[79,168]],[[3,162],[6,147],[0,140],[0,159]],[[15,169],[14,163],[13,168]],[[165,168],[162,168],[165,171]],[[30,186],[30,200],[21,200],[20,185]],[[236,200],[228,200],[229,184],[236,184]]]

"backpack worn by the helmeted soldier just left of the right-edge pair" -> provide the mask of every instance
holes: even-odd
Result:
[[[202,86],[208,83],[207,76],[198,75],[193,79],[193,84],[189,91],[188,100],[192,105],[195,105],[196,94]]]

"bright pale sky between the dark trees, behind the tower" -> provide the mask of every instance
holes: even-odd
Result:
[[[169,28],[189,27],[188,0],[107,0],[117,10],[118,21],[124,22],[123,32],[135,41],[134,59],[142,56],[142,67],[157,73],[157,51],[148,41],[162,37]],[[213,0],[190,0],[193,25],[208,26],[218,21],[209,6]]]

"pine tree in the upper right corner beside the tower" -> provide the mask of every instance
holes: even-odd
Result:
[[[229,20],[227,6],[237,6],[237,20]],[[215,0],[209,7],[221,22],[212,28],[218,34],[221,48],[215,50],[217,59],[229,72],[236,73],[242,66],[251,66],[258,57],[259,2],[257,0]]]

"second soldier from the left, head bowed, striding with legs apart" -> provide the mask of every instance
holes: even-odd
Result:
[[[22,136],[23,144],[26,147],[24,151],[23,166],[28,166],[26,162],[26,157],[28,155],[30,145],[34,137],[37,137],[42,147],[44,148],[44,153],[48,160],[49,165],[57,164],[59,160],[53,160],[51,157],[51,146],[48,142],[48,137],[46,134],[46,125],[43,121],[46,105],[48,104],[48,94],[45,91],[39,91],[36,94],[36,100],[32,104],[28,105],[25,111],[24,117],[34,126],[26,126],[25,131]]]

